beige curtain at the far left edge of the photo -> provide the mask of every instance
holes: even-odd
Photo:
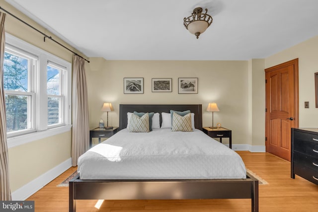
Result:
[[[5,13],[0,12],[0,200],[11,200],[8,167],[8,147],[6,144],[5,96],[3,88],[3,54],[4,54],[4,19]]]

